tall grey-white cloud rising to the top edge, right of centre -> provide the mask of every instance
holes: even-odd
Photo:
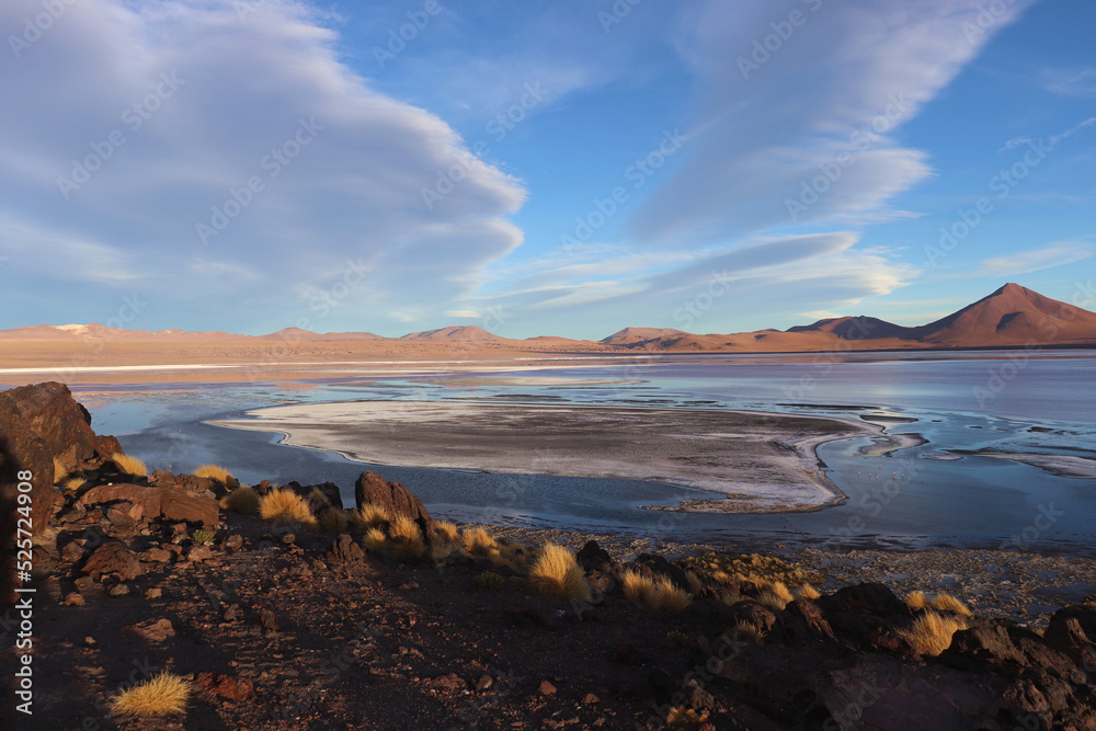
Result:
[[[977,24],[978,0],[694,9],[678,46],[701,77],[699,122],[685,161],[631,232],[651,243],[710,242],[886,212],[932,172],[894,130],[1029,4],[1009,3],[974,34],[964,24]]]

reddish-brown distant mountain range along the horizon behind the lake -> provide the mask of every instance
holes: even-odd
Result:
[[[96,358],[163,362],[247,362],[255,353],[299,346],[308,358],[430,356],[432,346],[448,352],[514,353],[817,353],[872,350],[1088,346],[1096,347],[1096,313],[1072,307],[1017,284],[1006,284],[977,302],[934,322],[904,327],[870,316],[818,320],[787,330],[695,334],[673,328],[625,328],[597,341],[539,335],[511,340],[475,325],[383,338],[370,332],[318,334],[286,328],[269,335],[182,330],[124,330],[90,324],[32,325],[0,331],[0,361],[55,363],[57,353]],[[4,355],[7,354],[7,358]],[[279,356],[284,357],[284,356]],[[179,358],[182,358],[180,361]]]

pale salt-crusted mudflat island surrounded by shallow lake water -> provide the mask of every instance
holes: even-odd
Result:
[[[826,477],[818,447],[881,431],[802,414],[467,401],[344,401],[247,415],[204,423],[281,434],[281,444],[372,465],[684,487],[712,498],[654,509],[705,513],[790,513],[841,504],[847,495]]]

